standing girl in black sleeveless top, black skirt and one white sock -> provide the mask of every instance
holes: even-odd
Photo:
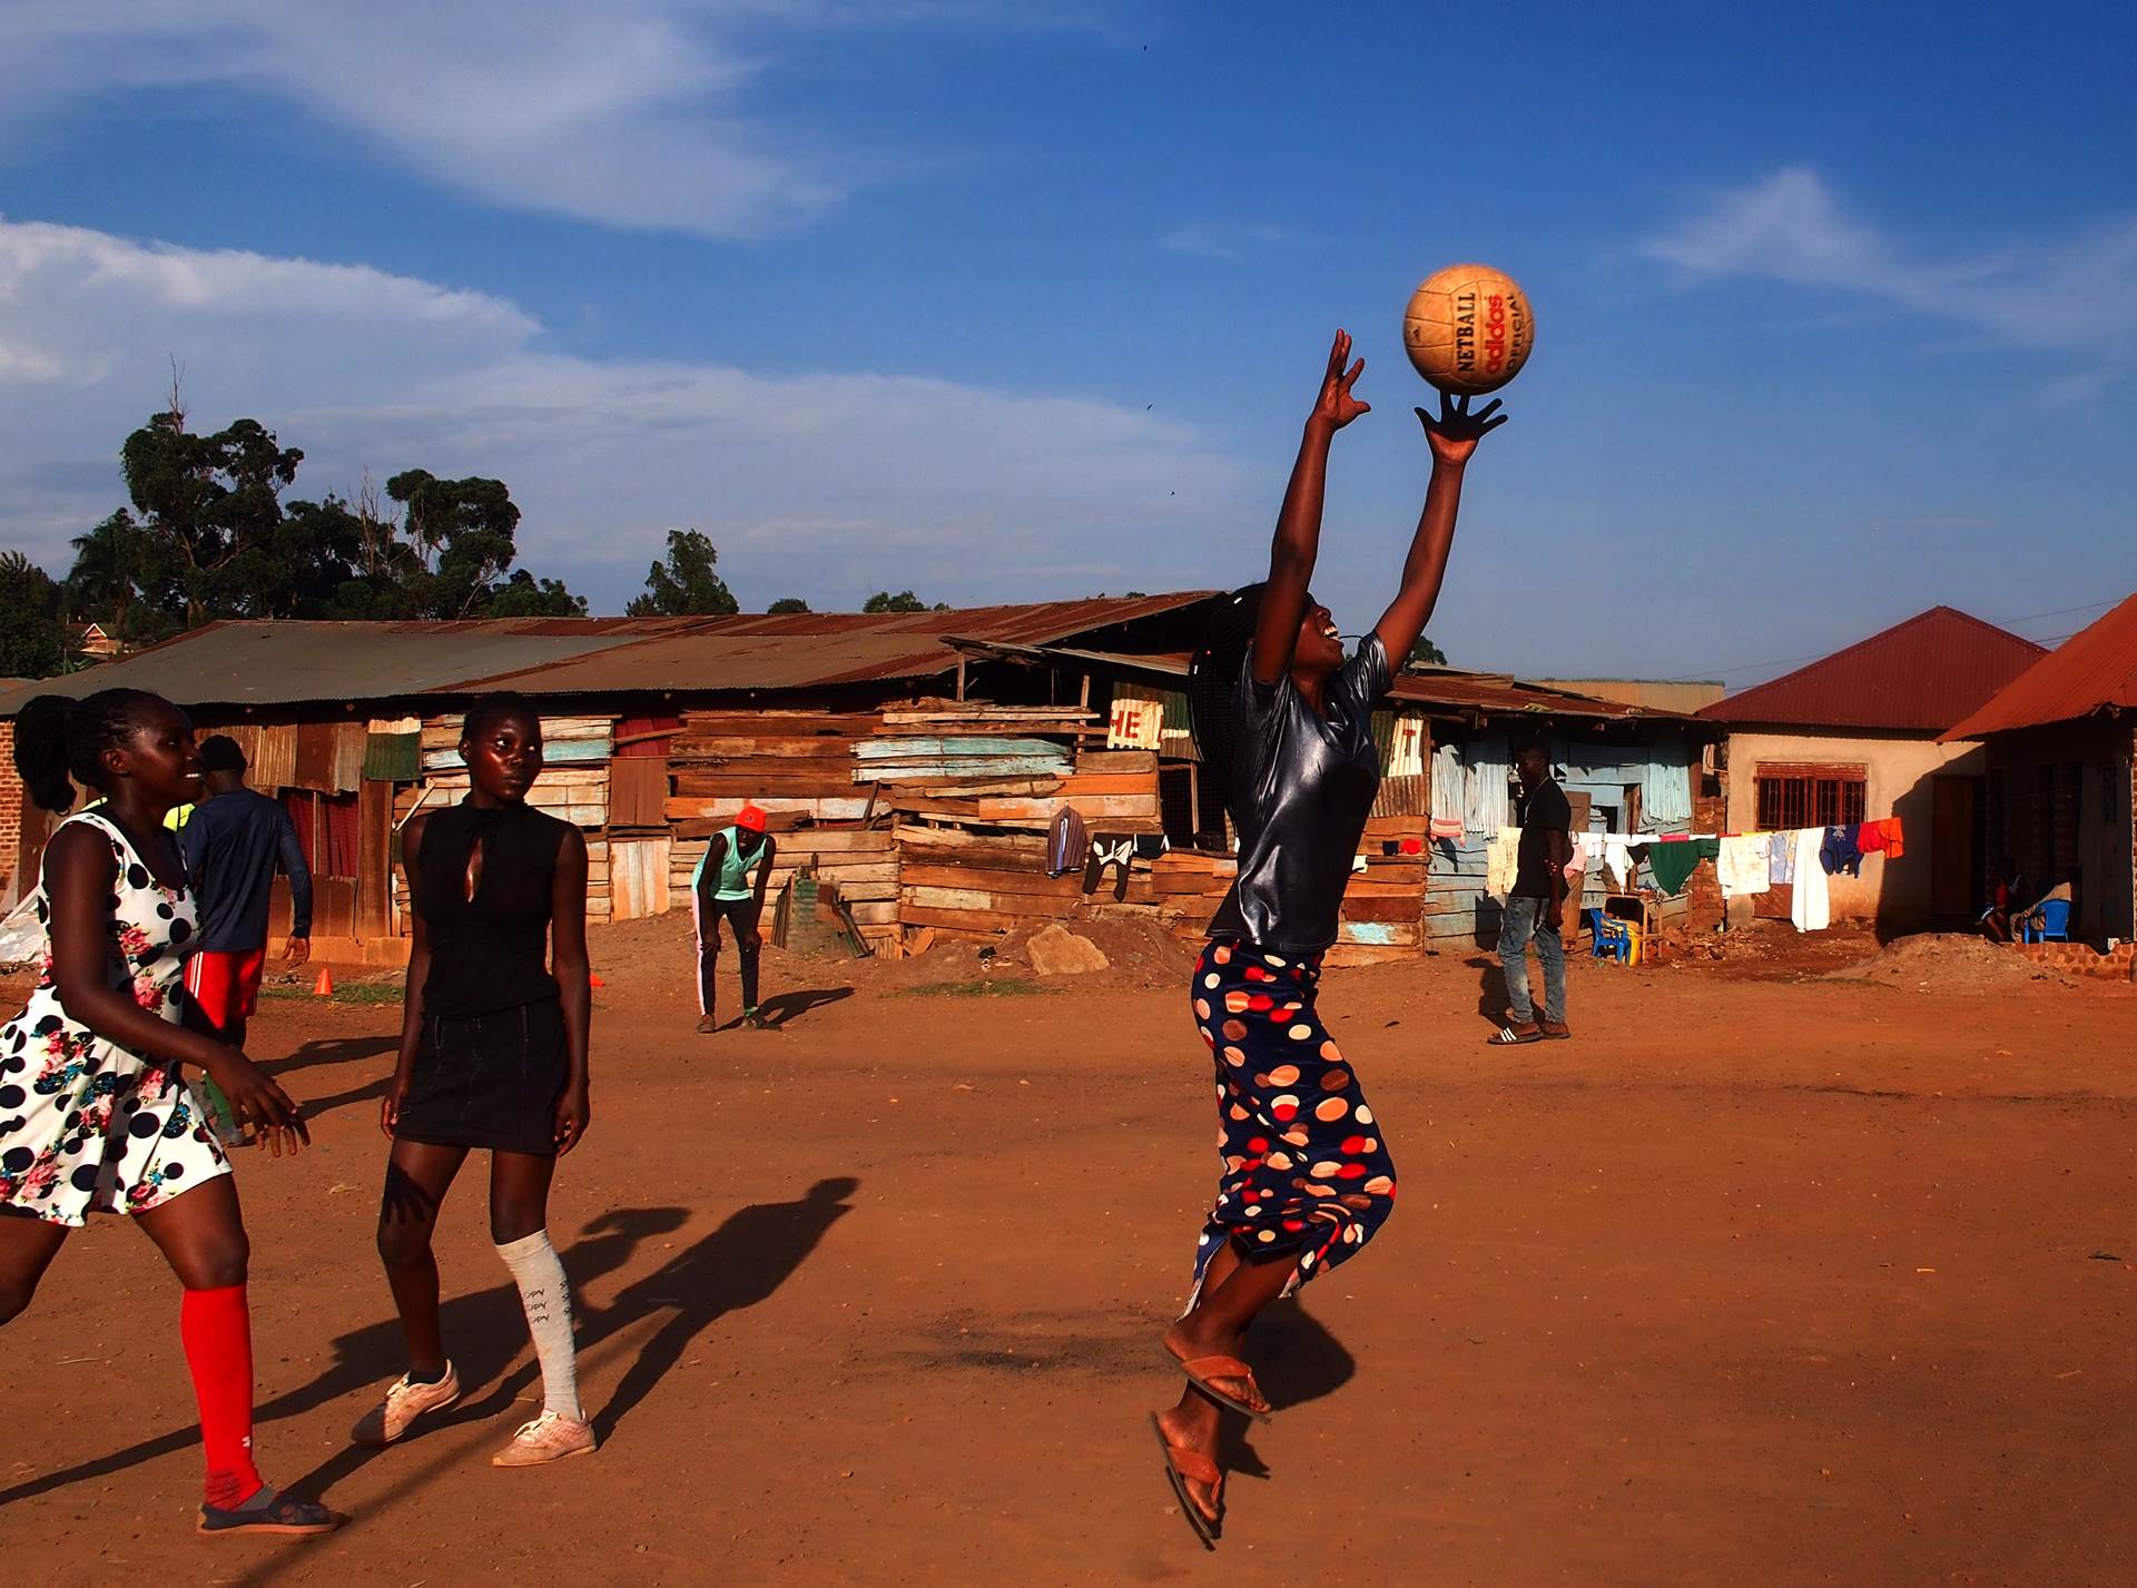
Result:
[[[579,1406],[571,1289],[547,1229],[549,1176],[590,1118],[586,838],[526,801],[543,767],[541,716],[528,701],[477,701],[459,757],[468,797],[417,816],[404,834],[415,943],[400,1064],[378,1109],[393,1141],[378,1255],[408,1336],[408,1372],[350,1438],[391,1445],[459,1400],[438,1329],[432,1231],[459,1165],[487,1148],[489,1237],[519,1285],[543,1376],[541,1415],[492,1462],[539,1466],[594,1449]]]

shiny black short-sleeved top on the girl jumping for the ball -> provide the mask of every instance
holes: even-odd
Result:
[[[1372,703],[1393,673],[1378,635],[1366,635],[1327,684],[1327,716],[1306,703],[1291,673],[1254,678],[1239,663],[1239,739],[1233,806],[1239,876],[1210,921],[1210,936],[1280,953],[1319,953],[1336,940],[1351,859],[1381,791]]]

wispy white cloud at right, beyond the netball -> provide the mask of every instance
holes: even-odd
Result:
[[[1816,171],[1789,167],[1714,194],[1643,252],[1695,276],[1859,293],[2019,346],[2137,355],[2137,218],[1938,259],[1849,214]]]

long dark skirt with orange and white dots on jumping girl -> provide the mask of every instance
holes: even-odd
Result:
[[[1297,1255],[1286,1293],[1357,1255],[1395,1205],[1381,1124],[1314,1013],[1321,955],[1212,943],[1195,966],[1195,1026],[1216,1058],[1216,1205],[1195,1285],[1227,1237],[1254,1259]]]

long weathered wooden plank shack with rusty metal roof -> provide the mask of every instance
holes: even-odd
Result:
[[[707,836],[754,801],[780,838],[774,885],[808,868],[872,953],[1105,913],[1197,936],[1233,870],[1180,692],[1210,601],[214,624],[53,686],[156,688],[203,733],[237,737],[252,784],[297,821],[314,947],[344,962],[406,955],[395,836],[466,791],[459,716],[489,690],[543,712],[549,769],[532,799],[586,831],[594,919],[686,904]],[[0,718],[38,688],[0,695]],[[1509,735],[1537,731],[1584,819],[1682,831],[1699,725],[1500,675],[1406,673],[1374,722],[1385,780],[1338,962],[1492,938],[1483,844],[1511,812]],[[1060,806],[1083,816],[1096,857],[1049,874]],[[19,821],[30,872],[43,823]]]

